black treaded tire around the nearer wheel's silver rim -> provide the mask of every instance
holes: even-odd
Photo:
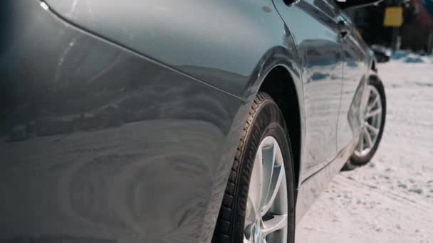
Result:
[[[293,174],[291,144],[283,115],[277,104],[265,92],[259,92],[254,102],[252,102],[244,130],[241,132],[241,139],[229,175],[212,242],[244,242],[251,173],[254,169],[254,161],[259,145],[269,136],[275,139],[279,148],[281,148],[284,165],[282,171],[286,173],[288,202],[286,242],[294,242],[295,177]]]

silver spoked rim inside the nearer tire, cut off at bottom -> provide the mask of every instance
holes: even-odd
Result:
[[[257,150],[246,203],[244,243],[286,242],[288,199],[283,153],[272,136]]]

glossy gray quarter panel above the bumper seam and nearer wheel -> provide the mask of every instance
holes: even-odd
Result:
[[[45,2],[80,28],[249,99],[264,53],[293,48],[270,0]]]

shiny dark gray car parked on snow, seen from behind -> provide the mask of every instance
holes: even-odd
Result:
[[[382,136],[367,2],[2,1],[0,242],[293,242]]]

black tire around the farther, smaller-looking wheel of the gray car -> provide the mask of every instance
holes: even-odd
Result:
[[[375,140],[374,145],[372,146],[372,148],[370,148],[370,151],[368,151],[368,153],[361,155],[355,149],[355,152],[350,157],[350,160],[343,167],[343,170],[345,170],[345,171],[352,170],[353,168],[356,168],[358,166],[364,166],[365,164],[370,162],[370,160],[372,159],[372,157],[375,155],[375,153],[377,151],[377,148],[380,144],[380,140],[382,139],[382,134],[383,134],[383,131],[385,128],[385,119],[386,119],[386,114],[387,114],[387,103],[386,103],[385,89],[382,85],[382,82],[380,80],[377,80],[377,79],[370,79],[368,82],[368,85],[371,85],[372,87],[374,87],[380,95],[380,104],[382,106],[382,113],[381,113],[382,118],[380,120],[379,133],[377,134],[377,139]]]

